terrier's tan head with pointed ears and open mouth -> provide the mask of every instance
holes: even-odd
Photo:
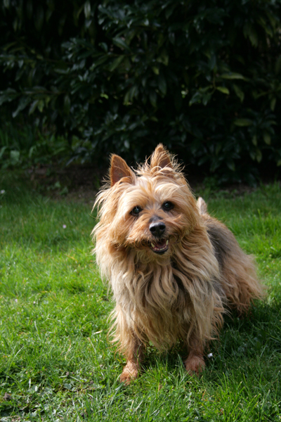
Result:
[[[97,200],[98,226],[103,228],[98,241],[136,250],[146,261],[158,260],[172,255],[198,224],[195,198],[178,163],[161,144],[134,171],[112,155],[109,179]]]

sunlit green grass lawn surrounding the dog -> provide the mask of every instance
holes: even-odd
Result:
[[[18,186],[18,187],[17,187]],[[180,347],[151,348],[143,375],[119,384],[107,342],[112,303],[91,256],[94,219],[0,177],[0,421],[281,421],[281,189],[202,192],[256,255],[268,286],[248,318],[226,319],[200,378]]]

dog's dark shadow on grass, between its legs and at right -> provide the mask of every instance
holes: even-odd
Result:
[[[211,341],[205,350],[206,371],[204,378],[218,383],[224,374],[240,371],[244,367],[264,365],[264,373],[275,370],[280,356],[280,302],[258,302],[246,316],[238,316],[236,312],[224,317],[224,324],[219,338]],[[158,352],[149,346],[145,352],[142,368],[155,371],[164,366],[166,372],[173,373],[178,366],[183,368],[183,358],[187,350],[183,342],[178,343],[169,352]],[[120,368],[122,369],[122,368]],[[263,371],[262,368],[259,371]],[[258,372],[259,372],[258,371]],[[187,374],[187,378],[189,378]]]

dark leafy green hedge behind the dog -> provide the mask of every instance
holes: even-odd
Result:
[[[4,0],[0,161],[11,162],[11,152],[16,161],[22,144],[7,137],[11,123],[20,130],[32,124],[29,156],[45,133],[57,154],[60,136],[67,139],[69,161],[103,164],[114,152],[133,163],[162,142],[220,181],[276,171],[280,6]]]

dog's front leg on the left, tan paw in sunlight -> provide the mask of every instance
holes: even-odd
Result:
[[[137,338],[132,338],[131,347],[126,350],[126,366],[120,375],[120,381],[125,384],[131,383],[138,377],[141,360],[143,358],[143,345]]]

